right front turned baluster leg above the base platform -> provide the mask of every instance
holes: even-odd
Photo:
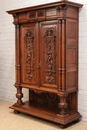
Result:
[[[66,109],[68,107],[68,104],[66,102],[67,94],[58,94],[60,98],[60,102],[58,103],[58,108],[60,108],[60,115],[66,115]]]

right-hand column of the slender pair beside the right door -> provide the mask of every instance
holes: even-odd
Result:
[[[65,91],[65,20],[62,20],[62,91]]]

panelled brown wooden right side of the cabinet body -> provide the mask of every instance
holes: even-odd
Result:
[[[77,20],[66,20],[66,89],[77,90],[78,87],[78,28]]]

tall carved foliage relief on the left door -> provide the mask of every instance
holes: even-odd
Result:
[[[26,76],[30,81],[34,78],[34,35],[33,30],[27,30],[25,34],[26,44]]]

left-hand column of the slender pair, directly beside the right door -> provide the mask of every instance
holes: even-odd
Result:
[[[61,60],[61,29],[62,29],[62,24],[61,24],[61,20],[58,21],[59,22],[59,91],[61,91],[62,89],[62,84],[61,84],[61,66],[62,66],[62,60]]]

